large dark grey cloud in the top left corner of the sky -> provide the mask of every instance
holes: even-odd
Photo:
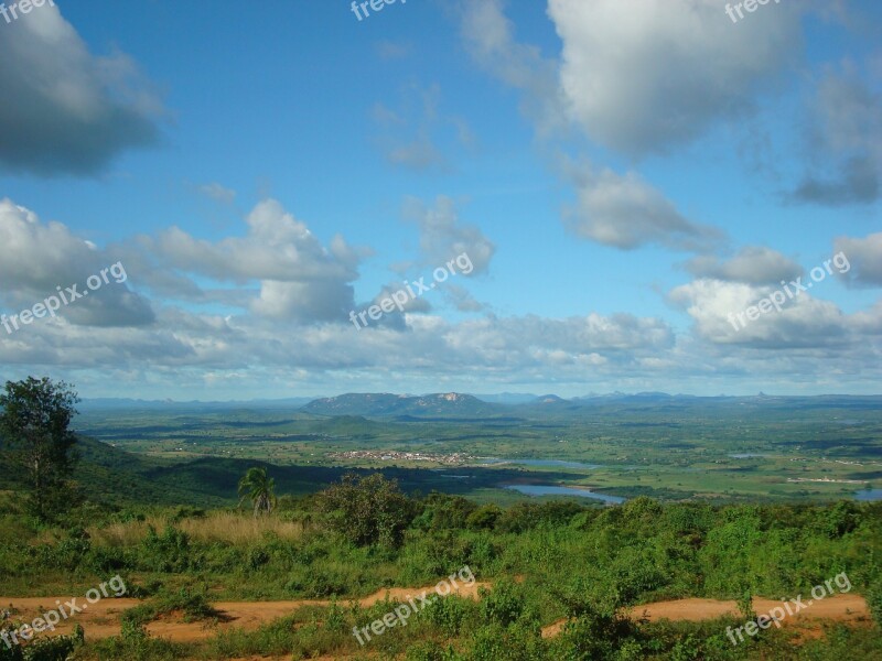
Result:
[[[0,169],[90,175],[158,143],[164,110],[136,64],[122,53],[92,55],[56,7],[3,30],[0,59]]]

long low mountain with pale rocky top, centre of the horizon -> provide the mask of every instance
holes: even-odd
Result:
[[[364,415],[367,418],[495,418],[510,414],[501,404],[483,402],[471,394],[445,392],[424,395],[347,393],[310,402],[301,409],[314,415]]]

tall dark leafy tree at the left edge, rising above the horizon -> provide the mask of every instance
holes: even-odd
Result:
[[[0,394],[0,434],[13,469],[26,476],[29,509],[41,519],[67,508],[72,495],[67,478],[79,454],[76,435],[68,427],[79,401],[64,381],[28,377],[7,381]]]

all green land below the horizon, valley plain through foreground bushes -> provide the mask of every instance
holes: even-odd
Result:
[[[798,415],[741,404],[598,404],[590,419],[527,409],[529,418],[483,421],[93,412],[76,422],[103,442],[77,436],[74,448],[57,436],[63,456],[83,460],[52,484],[83,498],[52,517],[50,500],[40,516],[33,498],[18,497],[34,486],[15,468],[14,430],[30,409],[8,407],[0,592],[12,613],[0,627],[23,624],[18,598],[82,595],[117,574],[138,602],[118,608],[117,636],[90,636],[84,619],[85,637],[0,644],[0,660],[882,659],[882,502],[850,498],[879,486],[882,413],[860,402],[816,402]],[[503,488],[519,484],[628,500]],[[483,583],[477,598],[440,598],[365,647],[352,635],[397,603],[388,593],[361,599],[431,586],[466,565]],[[727,638],[754,599],[806,595],[842,573],[876,624]],[[734,600],[741,615],[641,616],[644,604],[685,597]],[[270,600],[297,603],[258,628],[220,605]],[[200,636],[162,638],[163,626],[186,622]]]

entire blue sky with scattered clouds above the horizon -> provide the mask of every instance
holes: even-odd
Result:
[[[874,0],[3,8],[3,380],[882,392]]]

